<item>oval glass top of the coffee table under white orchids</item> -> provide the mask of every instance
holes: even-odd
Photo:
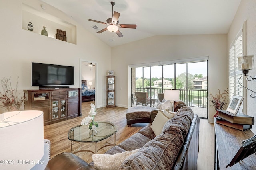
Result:
[[[78,142],[98,142],[112,136],[118,131],[116,125],[109,121],[99,121],[98,126],[95,135],[92,134],[92,130],[88,128],[88,125],[72,127],[68,132],[68,139]]]

